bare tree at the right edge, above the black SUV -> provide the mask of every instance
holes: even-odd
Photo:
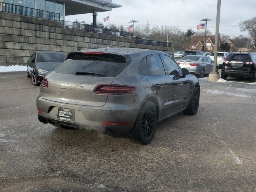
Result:
[[[240,22],[239,27],[242,32],[249,32],[250,37],[252,38],[252,43],[256,47],[256,16],[252,17],[251,19]]]

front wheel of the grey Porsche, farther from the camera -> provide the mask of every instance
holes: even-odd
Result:
[[[198,111],[200,100],[200,92],[197,87],[194,88],[193,94],[191,96],[188,108],[183,110],[183,113],[186,115],[195,115]]]

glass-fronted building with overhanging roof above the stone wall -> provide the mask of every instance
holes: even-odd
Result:
[[[111,11],[122,7],[112,0],[0,0],[0,2],[35,8],[60,14],[60,20],[66,15]]]

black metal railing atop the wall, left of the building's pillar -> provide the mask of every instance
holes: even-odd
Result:
[[[20,6],[20,5],[14,5],[14,4],[10,4],[10,3],[0,2],[0,11],[14,13],[14,14],[20,14],[20,15],[25,15],[25,16],[30,16],[30,17],[37,17],[37,18],[42,18],[42,19],[60,21],[59,13],[24,7],[24,6]]]

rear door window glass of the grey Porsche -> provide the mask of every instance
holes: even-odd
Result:
[[[148,75],[165,75],[164,66],[159,55],[147,57]]]

